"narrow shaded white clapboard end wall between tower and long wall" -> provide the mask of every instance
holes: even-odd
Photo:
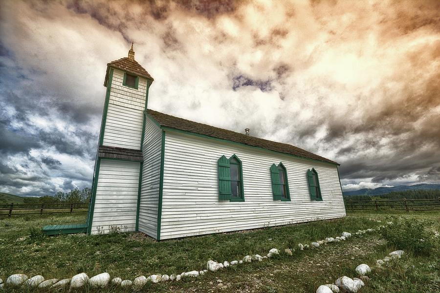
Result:
[[[162,130],[147,118],[142,147],[144,164],[142,169],[138,230],[154,238],[157,238],[161,147]]]

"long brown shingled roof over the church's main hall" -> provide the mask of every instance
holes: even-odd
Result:
[[[296,146],[283,144],[283,143],[277,143],[277,142],[269,141],[266,139],[234,132],[231,130],[222,129],[219,127],[214,127],[214,126],[186,120],[183,118],[178,118],[178,117],[171,116],[171,115],[164,114],[164,113],[160,113],[160,112],[157,112],[157,111],[154,111],[151,109],[147,109],[146,112],[160,126],[163,126],[163,127],[168,127],[168,128],[172,128],[172,129],[183,130],[183,131],[188,131],[188,132],[192,132],[192,133],[207,135],[207,136],[211,136],[214,138],[228,140],[231,142],[236,142],[236,143],[240,143],[240,144],[244,144],[244,145],[248,145],[248,146],[261,147],[261,148],[265,148],[265,149],[269,149],[269,150],[273,150],[273,151],[277,151],[277,152],[282,152],[282,153],[286,153],[286,154],[290,154],[290,155],[294,155],[294,156],[298,156],[298,157],[303,157],[303,158],[307,158],[307,159],[312,159],[312,160],[317,160],[317,161],[322,161],[322,162],[327,162],[327,163],[339,165],[338,163],[336,163],[334,161],[331,161],[331,160],[326,159],[324,157],[315,155],[307,150],[304,150],[304,149],[296,147]]]

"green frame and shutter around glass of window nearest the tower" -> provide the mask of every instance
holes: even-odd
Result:
[[[232,161],[237,161],[237,163],[231,163]],[[235,180],[231,180],[231,164],[238,165],[238,180],[239,182],[239,190],[240,196],[233,197],[232,196],[232,187],[231,182]],[[219,200],[229,200],[230,202],[244,202],[244,185],[243,185],[243,169],[242,169],[242,161],[234,154],[229,159],[227,159],[224,155],[220,157],[217,162],[218,165],[218,175],[219,175]]]

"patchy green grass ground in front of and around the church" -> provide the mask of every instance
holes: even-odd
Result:
[[[432,229],[440,230],[440,213],[394,213],[404,217],[427,219]],[[379,224],[369,218],[385,220],[385,213],[355,212],[347,218],[317,221],[283,227],[234,233],[189,237],[156,242],[141,233],[85,236],[84,234],[44,237],[38,230],[48,224],[81,223],[85,215],[54,215],[0,219],[0,277],[12,273],[42,274],[48,278],[66,278],[79,272],[89,276],[109,272],[133,280],[139,275],[171,274],[202,270],[206,261],[239,260],[246,254],[265,255],[271,248],[284,251],[298,243],[335,237],[342,231],[374,228]],[[396,250],[377,233],[352,237],[317,250],[250,263],[208,273],[197,279],[148,285],[147,292],[217,291],[217,279],[223,281],[223,292],[307,292],[322,284],[332,283],[342,275],[354,277],[360,263],[373,265]],[[430,257],[410,253],[393,269],[373,276],[362,292],[433,292],[439,286],[439,247]],[[413,267],[414,266],[414,267]],[[212,282],[212,284],[210,283]],[[406,286],[407,291],[402,291]],[[428,291],[423,291],[425,286]],[[437,287],[436,287],[437,286]],[[397,290],[398,289],[398,290]],[[106,288],[102,292],[118,292]],[[85,289],[86,292],[95,292]],[[17,291],[20,292],[20,291]]]

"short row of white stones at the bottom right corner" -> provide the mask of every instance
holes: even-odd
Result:
[[[376,265],[380,267],[385,262],[388,262],[393,258],[397,259],[402,257],[403,253],[404,252],[402,250],[390,252],[388,254],[390,256],[386,256],[383,259],[376,260]],[[372,268],[370,268],[367,264],[360,264],[354,270],[360,276],[360,278],[352,279],[347,276],[340,277],[334,282],[334,284],[319,286],[316,290],[316,293],[339,293],[340,291],[346,293],[356,293],[359,291],[359,289],[365,286],[365,283],[362,279],[369,280],[367,274],[371,272],[371,269]]]

